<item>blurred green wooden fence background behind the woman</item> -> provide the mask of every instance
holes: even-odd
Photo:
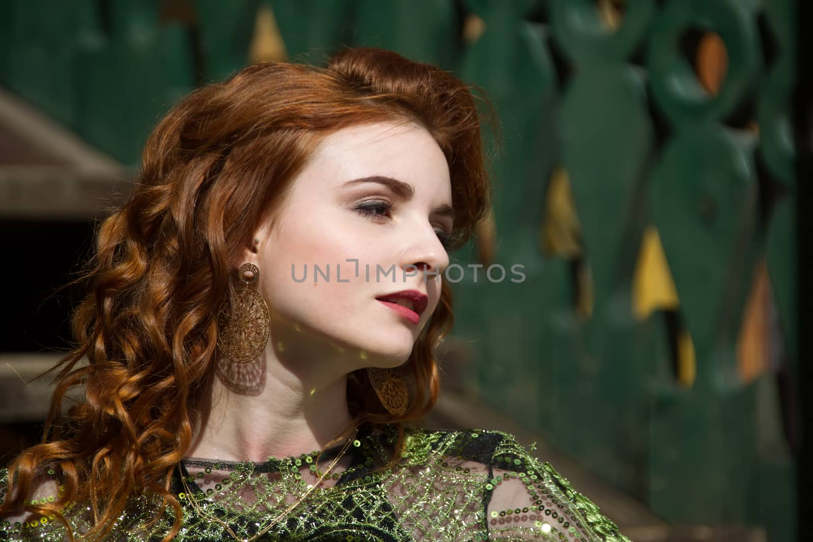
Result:
[[[638,542],[801,540],[796,9],[0,2],[0,465],[39,437],[32,379],[82,293],[63,286],[160,115],[249,63],[379,46],[478,85],[499,119],[493,215],[452,258],[484,267],[454,284],[426,425],[535,441]]]

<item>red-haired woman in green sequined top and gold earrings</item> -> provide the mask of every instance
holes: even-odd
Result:
[[[436,67],[344,50],[192,93],[98,232],[0,538],[627,540],[510,435],[406,426],[488,196],[472,95]]]

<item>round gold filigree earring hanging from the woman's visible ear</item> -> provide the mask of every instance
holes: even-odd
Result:
[[[263,296],[250,288],[259,279],[259,267],[244,263],[234,299],[228,297],[217,314],[217,347],[233,362],[248,363],[259,357],[268,342],[271,316]]]

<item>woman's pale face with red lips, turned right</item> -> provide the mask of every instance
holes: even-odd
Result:
[[[347,371],[405,362],[440,297],[450,212],[446,157],[424,128],[363,124],[326,137],[258,235],[272,348],[328,345]]]

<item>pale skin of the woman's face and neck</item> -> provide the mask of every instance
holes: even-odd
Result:
[[[411,195],[388,180],[408,184]],[[259,267],[256,288],[272,319],[267,346],[245,366],[219,360],[187,456],[263,462],[341,436],[352,420],[347,374],[401,365],[437,307],[449,265],[439,235],[452,230],[450,206],[446,157],[417,124],[363,124],[326,137],[293,180],[275,228],[263,223],[241,262]],[[348,258],[359,260],[358,276]],[[296,282],[305,264],[307,280]],[[330,279],[315,282],[314,264],[329,264]],[[398,273],[376,282],[376,265]],[[376,300],[405,289],[428,296],[418,323]]]

